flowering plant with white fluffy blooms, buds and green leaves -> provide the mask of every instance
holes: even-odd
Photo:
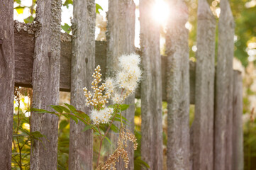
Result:
[[[116,169],[116,162],[119,158],[123,159],[125,167],[128,168],[129,158],[127,148],[127,142],[133,142],[133,149],[137,149],[138,144],[133,135],[133,132],[126,129],[124,124],[126,118],[122,116],[122,111],[128,108],[128,105],[124,105],[123,101],[135,92],[140,81],[141,70],[140,70],[140,57],[135,54],[122,55],[119,57],[119,69],[114,78],[106,78],[106,81],[101,83],[102,74],[100,73],[101,67],[98,65],[94,69],[92,77],[94,80],[91,82],[91,89],[89,91],[84,87],[84,95],[86,97],[85,104],[91,106],[89,115],[82,111],[77,111],[74,106],[65,103],[65,106],[51,106],[57,113],[46,111],[44,109],[35,109],[38,113],[51,113],[55,115],[64,115],[67,118],[71,118],[76,123],[78,120],[82,121],[86,125],[84,130],[92,129],[94,134],[99,137],[99,155],[97,159],[96,169]],[[112,101],[112,105],[107,106],[108,101]],[[117,128],[113,124],[114,121],[120,122],[120,128]],[[105,126],[107,128],[102,128]],[[118,132],[118,143],[116,150],[108,157],[106,162],[99,164],[99,158],[101,153],[101,145],[103,140],[106,138],[109,130]],[[104,130],[106,130],[104,132]],[[108,138],[106,138],[108,140]]]

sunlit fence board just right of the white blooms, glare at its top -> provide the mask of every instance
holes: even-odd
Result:
[[[160,25],[152,20],[154,0],[140,1],[140,48],[143,75],[141,97],[141,157],[150,169],[162,169],[162,79]]]

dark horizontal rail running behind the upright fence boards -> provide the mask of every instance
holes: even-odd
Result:
[[[17,25],[17,24],[16,24]],[[20,25],[20,23],[18,24]],[[33,72],[33,49],[34,35],[33,31],[36,28],[33,26],[15,26],[14,38],[15,38],[15,68],[16,86],[32,87],[32,72]],[[28,31],[29,30],[29,31]],[[29,32],[29,33],[28,33]],[[71,35],[61,35],[61,60],[60,60],[60,90],[70,91],[70,75],[71,75],[71,51],[72,42]],[[95,62],[96,65],[101,65],[102,77],[105,77],[106,73],[106,42],[95,41]],[[141,52],[137,49],[136,52]],[[161,56],[162,59],[162,100],[166,101],[166,70],[167,70],[167,57]],[[190,84],[190,103],[194,104],[195,98],[195,67],[194,62],[189,62],[189,84]],[[140,89],[135,93],[136,98],[140,98]]]

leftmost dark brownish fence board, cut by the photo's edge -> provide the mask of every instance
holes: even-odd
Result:
[[[13,1],[0,1],[0,169],[11,170],[14,94]]]

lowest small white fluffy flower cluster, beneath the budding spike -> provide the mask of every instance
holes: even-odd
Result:
[[[104,108],[103,110],[96,111],[92,110],[90,118],[94,125],[99,123],[108,123],[113,113],[113,108]]]

